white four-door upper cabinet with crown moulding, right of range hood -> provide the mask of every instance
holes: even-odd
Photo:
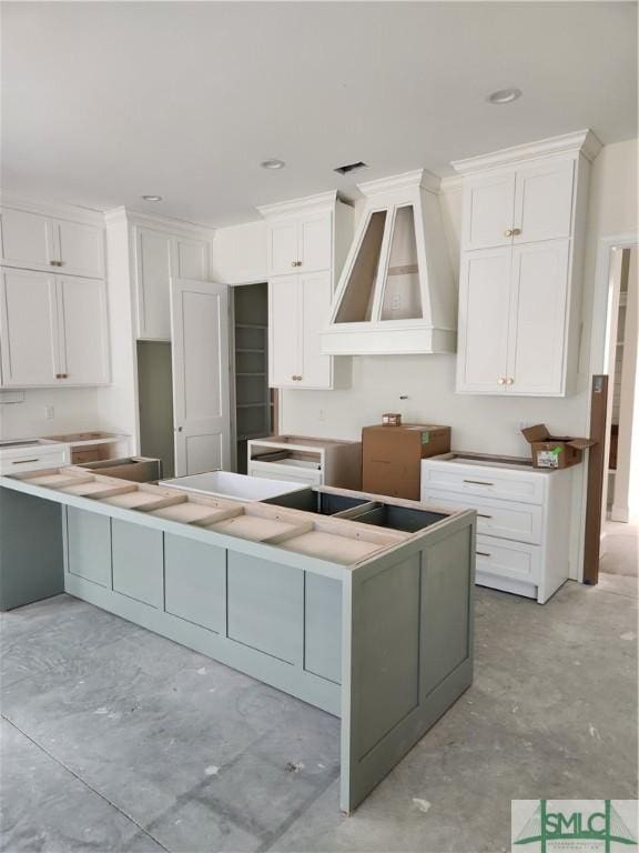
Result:
[[[454,163],[464,178],[457,391],[565,397],[580,333],[589,132]]]

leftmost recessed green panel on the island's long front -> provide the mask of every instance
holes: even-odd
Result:
[[[87,510],[67,510],[68,569],[111,589],[111,519]]]

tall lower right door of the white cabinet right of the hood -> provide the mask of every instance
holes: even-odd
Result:
[[[513,249],[507,393],[562,394],[569,240]]]

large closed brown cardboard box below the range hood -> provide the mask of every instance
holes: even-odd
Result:
[[[362,489],[418,501],[422,460],[449,450],[450,426],[417,423],[364,426]]]

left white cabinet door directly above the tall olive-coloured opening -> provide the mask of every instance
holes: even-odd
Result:
[[[173,238],[163,231],[138,225],[135,255],[138,338],[170,341]]]

